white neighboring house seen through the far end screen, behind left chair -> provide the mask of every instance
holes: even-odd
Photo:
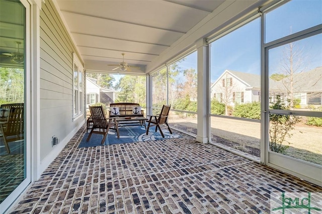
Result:
[[[115,91],[102,88],[97,84],[97,79],[86,77],[86,108],[96,102],[109,104],[114,102]]]

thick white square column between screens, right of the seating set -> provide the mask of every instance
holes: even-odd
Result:
[[[197,42],[198,55],[198,102],[197,102],[197,138],[200,143],[209,142],[209,46],[205,39]]]

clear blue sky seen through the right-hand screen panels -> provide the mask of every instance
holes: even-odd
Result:
[[[266,42],[296,33],[322,23],[321,0],[293,0],[266,16]],[[322,66],[322,36],[317,35],[295,43],[306,60],[307,69]],[[270,54],[270,72],[278,71],[283,49]],[[274,66],[273,66],[274,65]],[[181,67],[196,68],[197,53],[186,57]],[[221,37],[211,44],[211,82],[225,70],[260,74],[260,19]],[[274,71],[274,72],[273,72]]]

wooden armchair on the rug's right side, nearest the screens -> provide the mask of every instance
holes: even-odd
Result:
[[[168,124],[168,116],[169,116],[170,108],[171,108],[171,105],[163,105],[161,113],[159,115],[157,115],[157,116],[156,115],[148,115],[147,116],[147,117],[150,117],[150,119],[149,119],[149,123],[147,125],[146,135],[148,134],[149,128],[151,126],[155,126],[155,132],[157,131],[157,128],[158,128],[160,131],[160,134],[162,135],[163,138],[165,137],[165,135],[163,134],[160,126],[166,126],[168,128],[169,132],[172,134],[172,131],[171,131],[169,124]]]

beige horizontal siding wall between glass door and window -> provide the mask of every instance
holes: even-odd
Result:
[[[52,150],[52,136],[60,141],[84,122],[72,120],[72,54],[76,52],[59,14],[51,1],[40,12],[40,159]],[[85,88],[83,89],[85,91]]]

